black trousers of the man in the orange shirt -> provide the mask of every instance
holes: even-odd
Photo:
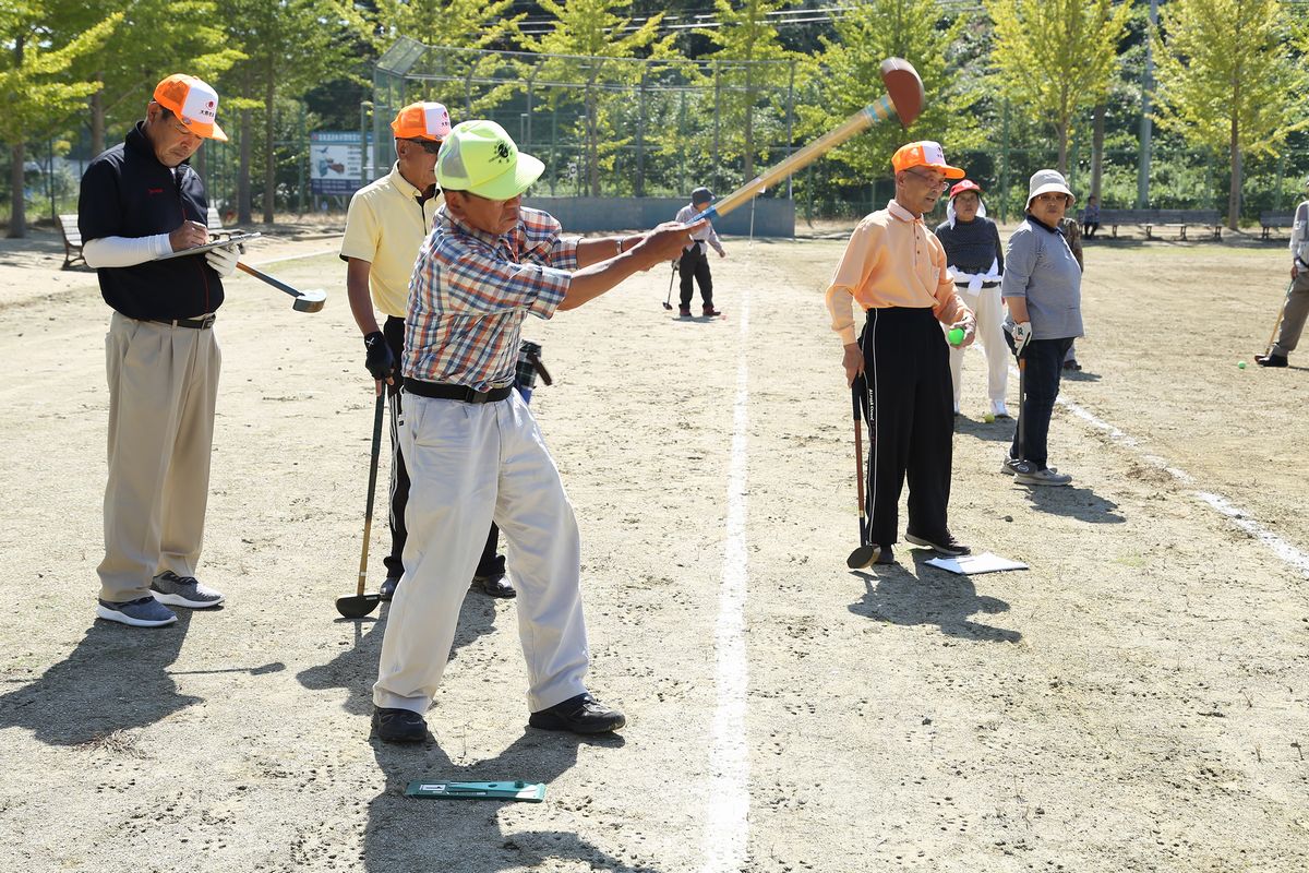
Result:
[[[860,336],[872,415],[868,462],[869,538],[890,546],[908,476],[908,530],[939,541],[946,531],[954,406],[950,357],[931,309],[869,309]]]

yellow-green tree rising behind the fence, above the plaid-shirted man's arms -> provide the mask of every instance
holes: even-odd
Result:
[[[632,20],[619,13],[628,7],[624,0],[543,0],[541,8],[555,17],[555,27],[537,37],[522,37],[528,51],[562,55],[542,60],[535,75],[579,85],[552,92],[550,105],[558,111],[565,102],[581,102],[583,154],[575,171],[584,174],[590,196],[600,196],[601,170],[611,170],[618,149],[631,140],[617,135],[613,120],[645,72],[643,64],[592,59],[620,62],[672,54],[673,37],[658,35],[662,14],[632,26]]]

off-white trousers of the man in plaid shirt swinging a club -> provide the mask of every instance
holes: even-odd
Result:
[[[581,543],[559,469],[517,391],[496,403],[404,393],[410,471],[404,576],[391,601],[373,703],[425,712],[491,521],[513,568],[533,712],[586,691]]]

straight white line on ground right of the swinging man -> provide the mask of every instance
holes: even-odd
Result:
[[[741,296],[736,402],[732,414],[732,459],[728,466],[726,543],[719,588],[715,628],[717,665],[713,686],[713,741],[709,747],[709,804],[704,815],[703,873],[745,869],[750,832],[750,753],[745,733],[749,673],[745,649],[746,582],[746,475],[750,424],[750,370],[746,365],[750,330],[750,292]]]

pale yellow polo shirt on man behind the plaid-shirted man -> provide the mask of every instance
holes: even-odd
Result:
[[[445,203],[437,194],[420,205],[421,196],[395,164],[390,174],[355,191],[346,213],[340,258],[359,258],[372,264],[368,287],[373,304],[395,318],[404,318],[408,280],[419,246],[432,230],[437,207]]]

